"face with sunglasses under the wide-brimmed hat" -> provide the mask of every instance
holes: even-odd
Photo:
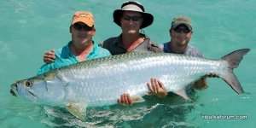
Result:
[[[143,23],[141,13],[124,11],[120,17],[122,31],[128,34],[138,33]]]

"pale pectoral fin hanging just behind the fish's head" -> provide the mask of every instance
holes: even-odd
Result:
[[[84,117],[86,115],[86,107],[87,105],[85,103],[67,103],[66,108],[69,113],[72,113],[76,118],[80,120],[84,120]]]

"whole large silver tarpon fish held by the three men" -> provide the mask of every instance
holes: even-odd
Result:
[[[84,119],[86,107],[116,104],[124,92],[130,94],[132,102],[142,102],[142,96],[149,92],[146,84],[150,78],[159,79],[167,91],[189,99],[186,86],[216,73],[240,94],[244,91],[233,68],[249,50],[239,49],[217,60],[168,53],[113,55],[17,81],[11,85],[11,93],[31,102],[64,104],[79,119]]]

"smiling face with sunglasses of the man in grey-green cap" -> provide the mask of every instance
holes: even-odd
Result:
[[[192,38],[192,33],[187,26],[177,26],[176,29],[170,30],[171,42],[177,46],[186,46],[189,44],[190,38]]]

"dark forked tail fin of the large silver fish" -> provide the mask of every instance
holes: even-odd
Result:
[[[239,63],[242,60],[242,57],[249,52],[250,49],[238,49],[236,51],[231,52],[228,55],[224,55],[221,59],[224,61],[227,61],[228,66],[228,72],[220,75],[219,77],[224,79],[224,81],[230,85],[230,87],[236,91],[236,93],[240,94],[244,91],[242,90],[241,84],[239,80],[236,78],[235,73],[233,72],[233,69],[239,66]]]

